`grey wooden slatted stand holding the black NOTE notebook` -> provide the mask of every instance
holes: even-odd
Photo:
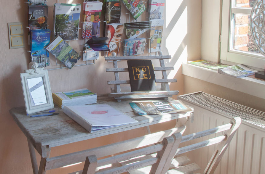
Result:
[[[161,88],[156,91],[144,91],[144,92],[122,92],[121,84],[130,84],[130,80],[120,80],[119,72],[128,72],[128,68],[118,68],[118,60],[152,60],[159,59],[160,67],[154,67],[155,71],[162,71],[162,79],[156,79],[156,83],[161,83]],[[107,72],[114,72],[115,80],[108,81],[108,85],[115,85],[111,87],[111,93],[109,97],[114,97],[117,102],[121,102],[121,99],[141,99],[141,98],[164,98],[177,95],[178,91],[170,91],[169,84],[172,82],[177,82],[177,79],[168,79],[166,70],[174,70],[174,67],[165,67],[164,59],[171,59],[171,56],[163,56],[162,52],[158,52],[158,56],[125,56],[116,57],[115,53],[112,57],[105,57],[105,60],[113,61],[113,68],[107,68]]]

